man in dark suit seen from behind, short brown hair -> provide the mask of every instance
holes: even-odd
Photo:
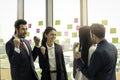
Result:
[[[105,27],[102,24],[96,23],[90,28],[91,37],[97,43],[97,48],[87,67],[84,65],[81,55],[77,54],[78,52],[74,53],[79,69],[88,80],[116,80],[117,49],[104,39]]]

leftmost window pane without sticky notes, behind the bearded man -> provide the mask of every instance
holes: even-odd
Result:
[[[17,19],[17,0],[0,1],[0,80],[10,80],[10,65],[5,52],[5,43],[14,35]]]

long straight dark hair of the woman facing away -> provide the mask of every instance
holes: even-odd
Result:
[[[81,51],[81,57],[85,62],[85,65],[87,66],[89,48],[92,45],[89,26],[83,26],[79,29],[79,42],[80,42],[79,50]]]

